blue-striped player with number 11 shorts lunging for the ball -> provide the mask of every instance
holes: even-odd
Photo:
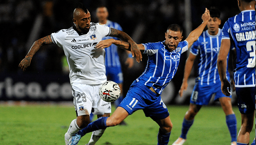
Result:
[[[137,44],[139,49],[148,55],[147,66],[128,90],[124,100],[110,117],[101,117],[72,136],[72,144],[88,132],[118,125],[128,115],[142,109],[146,117],[153,119],[159,126],[158,145],[167,145],[172,130],[169,112],[161,99],[163,89],[174,77],[180,61],[180,55],[195,42],[210,19],[208,9],[202,15],[203,23],[182,40],[182,28],[177,24],[168,26],[165,40],[156,43]],[[128,43],[115,39],[102,40],[96,48],[106,48],[115,44],[130,50]]]

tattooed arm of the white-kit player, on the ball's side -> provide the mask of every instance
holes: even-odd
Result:
[[[131,44],[132,57],[135,56],[137,62],[142,61],[142,55],[137,47],[137,44],[131,39],[131,37],[128,34],[126,34],[123,31],[111,28],[111,32],[110,32],[109,36],[120,38],[121,40]]]

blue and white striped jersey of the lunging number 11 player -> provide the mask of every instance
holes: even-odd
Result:
[[[174,77],[181,53],[188,49],[188,42],[182,41],[177,48],[169,52],[164,45],[165,41],[157,43],[143,44],[145,47],[144,54],[148,54],[147,66],[142,75],[137,78],[142,84],[153,87],[161,94],[166,85]]]

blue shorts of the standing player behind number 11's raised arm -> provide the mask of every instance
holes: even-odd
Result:
[[[219,101],[219,98],[221,97],[232,98],[231,95],[226,96],[222,93],[221,83],[201,85],[200,82],[196,80],[196,84],[190,97],[190,103],[196,105],[208,105],[213,94],[215,94],[214,101]]]

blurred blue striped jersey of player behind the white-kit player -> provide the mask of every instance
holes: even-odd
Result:
[[[122,27],[116,22],[107,20],[107,23],[105,25],[108,27],[123,31]],[[102,40],[111,39],[111,38],[118,40],[118,38],[110,37],[110,36],[104,37],[104,38],[102,38]],[[106,67],[121,67],[121,64],[119,61],[119,55],[117,52],[117,46],[112,44],[108,48],[105,48],[105,51],[106,51],[105,66]]]

